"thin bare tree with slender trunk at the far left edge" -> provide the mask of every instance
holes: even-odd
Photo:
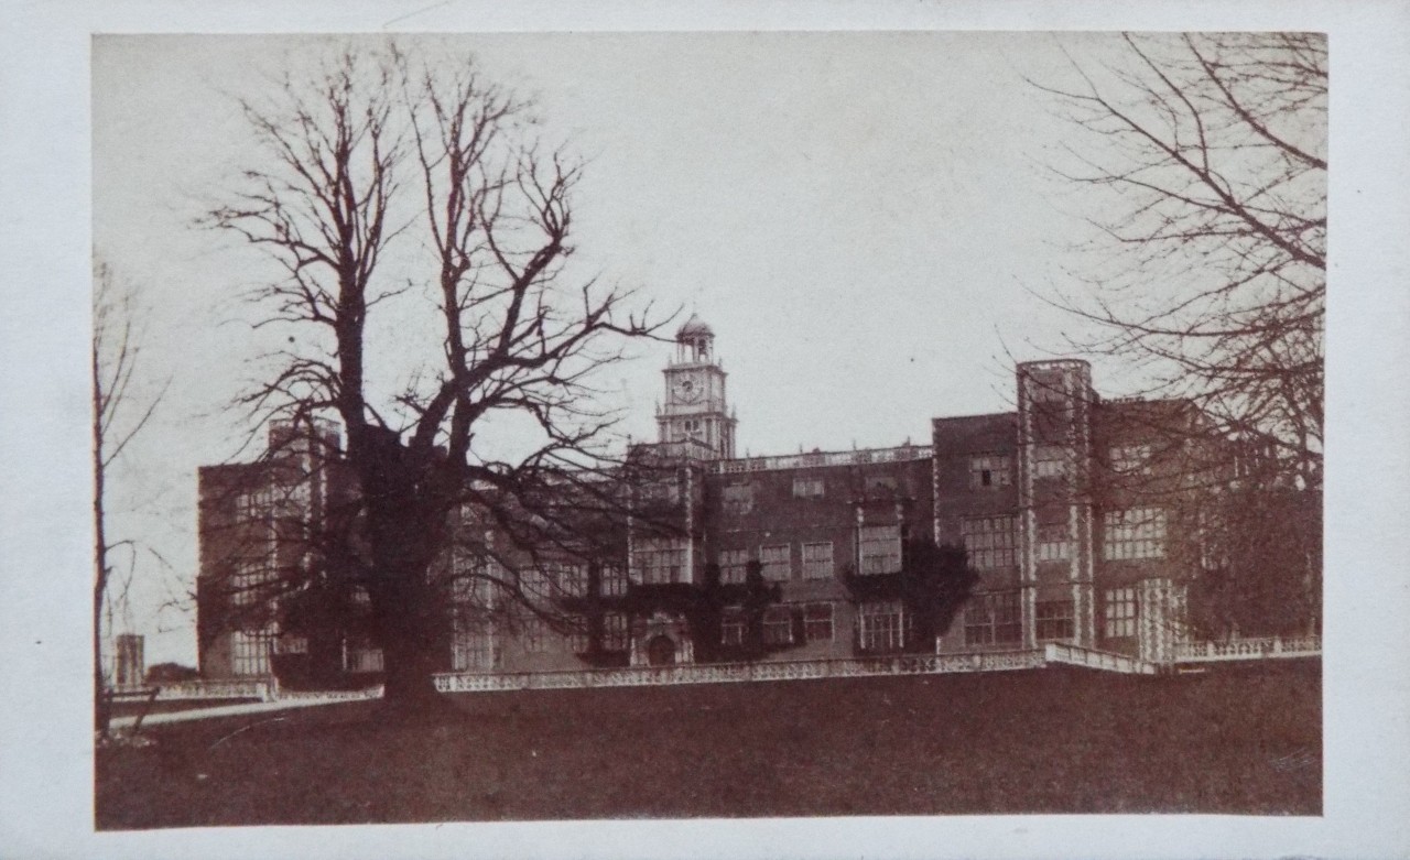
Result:
[[[109,698],[103,671],[103,615],[113,579],[113,551],[128,541],[111,541],[107,532],[109,469],[148,424],[165,388],[144,398],[134,388],[140,337],[133,292],[113,268],[93,266],[93,722],[107,733]]]

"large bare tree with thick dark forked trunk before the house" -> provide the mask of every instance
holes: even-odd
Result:
[[[358,510],[341,520],[357,527],[326,548],[371,598],[386,699],[419,705],[434,698],[437,570],[461,512],[546,523],[543,488],[592,486],[613,423],[591,406],[592,375],[657,324],[625,310],[629,293],[571,279],[580,168],[539,145],[529,106],[470,58],[348,49],[244,113],[266,159],[209,223],[282,266],[255,300],[262,324],[290,333],[244,402],[261,419],[341,422],[345,448],[324,458],[355,477]],[[386,307],[424,313],[384,314],[399,343],[376,344]],[[532,422],[529,453],[477,446],[505,414]]]

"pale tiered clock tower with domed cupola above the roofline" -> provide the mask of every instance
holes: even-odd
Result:
[[[656,413],[663,443],[689,443],[712,460],[735,457],[735,416],[725,407],[725,369],[715,358],[715,333],[698,316],[675,333],[675,358],[661,371],[666,402]]]

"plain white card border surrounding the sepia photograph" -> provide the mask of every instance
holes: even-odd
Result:
[[[1163,857],[1410,850],[1410,8],[1363,3],[52,3],[0,37],[0,853],[17,857]],[[92,833],[89,37],[525,30],[1331,34],[1324,816],[967,816]],[[75,572],[82,571],[82,574]],[[83,633],[80,633],[83,632]],[[1177,715],[1172,715],[1177,719]]]

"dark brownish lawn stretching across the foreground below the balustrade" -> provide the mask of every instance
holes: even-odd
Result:
[[[494,819],[1321,812],[1316,661],[467,694],[154,726],[100,829]]]

